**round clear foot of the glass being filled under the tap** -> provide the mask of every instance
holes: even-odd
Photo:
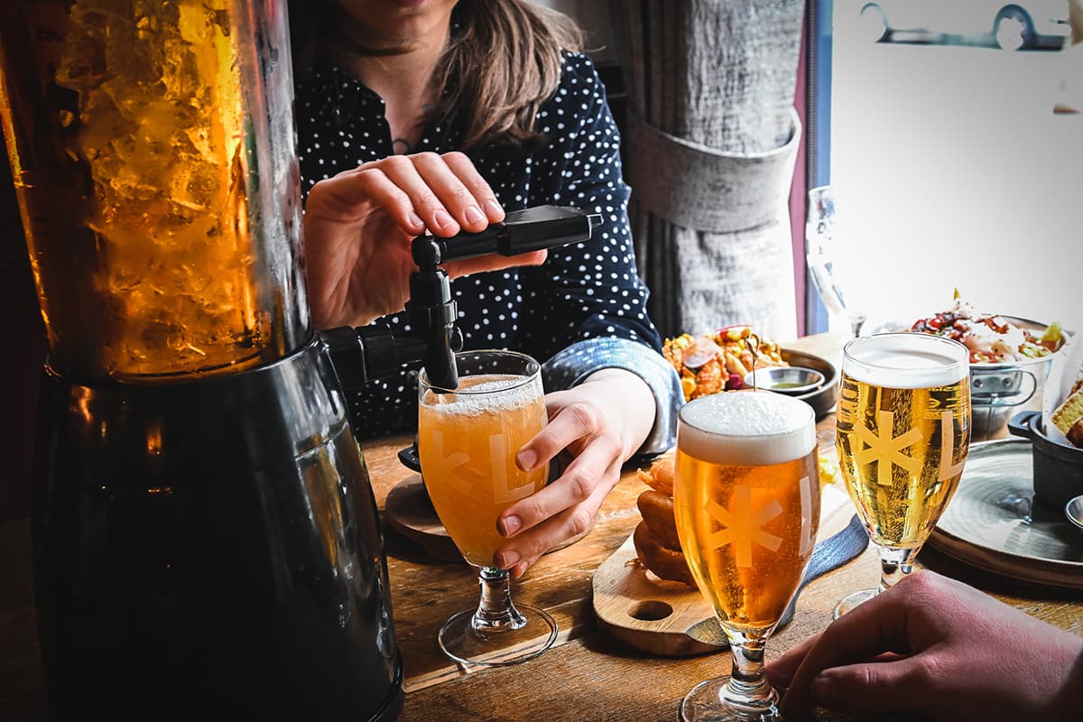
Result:
[[[474,609],[464,609],[444,622],[436,641],[440,649],[461,665],[503,667],[533,659],[557,641],[557,621],[546,612],[517,604],[526,623],[499,630],[471,627]]]

